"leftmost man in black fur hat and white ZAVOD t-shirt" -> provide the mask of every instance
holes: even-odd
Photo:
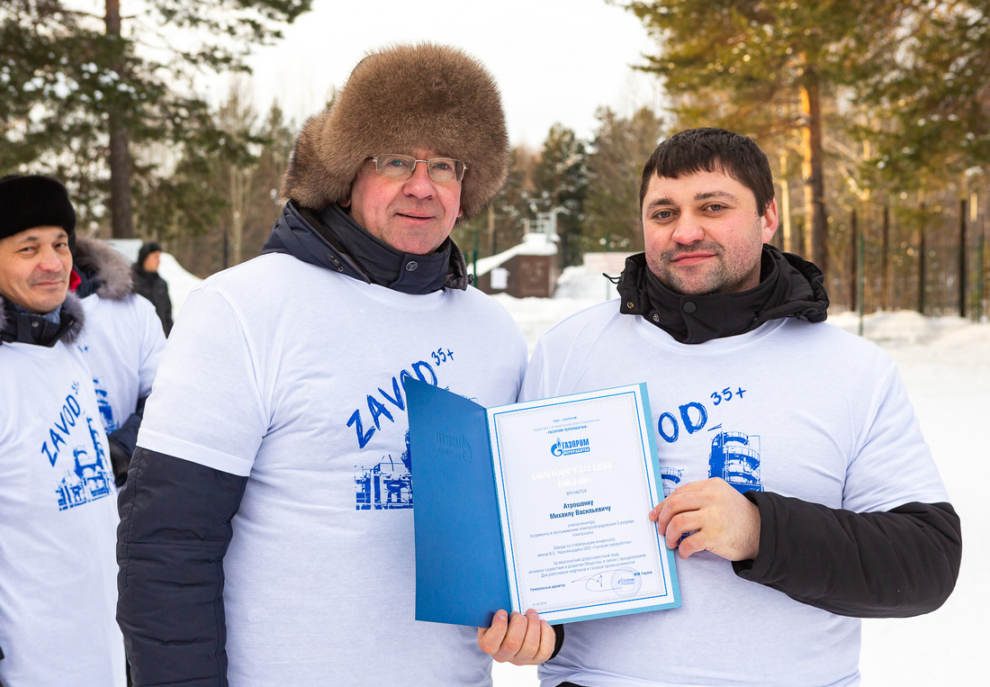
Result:
[[[68,293],[75,211],[0,179],[0,683],[123,686],[116,489]]]

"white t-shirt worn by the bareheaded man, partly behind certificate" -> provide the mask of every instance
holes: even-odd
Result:
[[[545,335],[522,398],[636,382],[666,493],[723,477],[856,512],[948,500],[894,362],[831,325],[777,320],[678,344],[614,301]],[[544,684],[858,683],[858,619],[747,582],[707,551],[676,565],[681,608],[568,625]]]

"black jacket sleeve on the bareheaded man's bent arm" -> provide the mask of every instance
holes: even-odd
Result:
[[[947,503],[853,513],[771,492],[759,508],[759,553],[736,574],[841,616],[907,618],[939,608],[962,558],[959,517]]]

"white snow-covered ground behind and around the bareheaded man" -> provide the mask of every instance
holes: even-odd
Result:
[[[603,285],[595,284],[592,292],[602,292]],[[553,323],[603,299],[499,300],[532,349]],[[829,322],[859,331],[859,319],[851,313],[833,315]],[[980,429],[984,423],[990,428],[990,324],[924,318],[914,312],[876,313],[864,318],[863,336],[886,349],[901,369],[962,519],[964,542],[955,592],[940,610],[920,618],[864,622],[863,685],[987,684],[983,661],[990,649],[990,498],[978,477],[984,461],[990,464],[990,441]],[[539,684],[533,667],[496,664],[493,673],[496,687]]]

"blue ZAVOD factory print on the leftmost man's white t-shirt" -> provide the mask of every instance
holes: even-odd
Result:
[[[78,401],[79,384],[58,409],[42,442],[43,459],[54,471],[55,503],[59,511],[110,496],[113,476],[103,441],[103,429]]]

